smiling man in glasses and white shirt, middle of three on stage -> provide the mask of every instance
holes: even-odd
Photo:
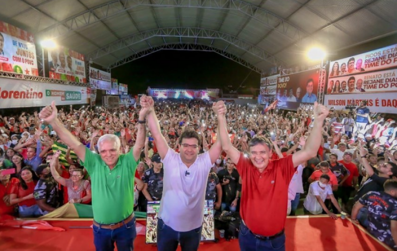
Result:
[[[141,106],[151,110],[146,118],[164,164],[163,196],[157,223],[158,251],[176,251],[179,243],[182,251],[197,251],[208,174],[221,153],[221,144],[217,140],[207,152],[199,155],[201,138],[196,131],[187,129],[179,137],[180,153],[177,153],[161,133],[153,99],[141,101]]]

